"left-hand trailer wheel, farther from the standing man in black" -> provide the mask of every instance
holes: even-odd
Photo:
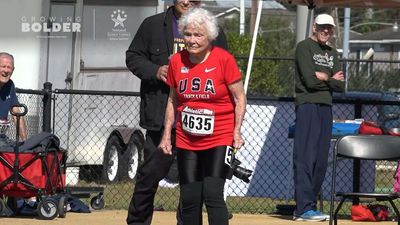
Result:
[[[117,136],[111,136],[104,150],[102,169],[102,179],[104,182],[113,183],[119,180],[123,169],[122,161],[122,143]]]

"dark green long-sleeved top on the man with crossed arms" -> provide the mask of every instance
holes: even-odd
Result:
[[[307,38],[298,43],[295,54],[296,105],[304,103],[332,104],[332,92],[343,92],[345,82],[331,78],[341,70],[338,53],[328,45]],[[318,80],[315,72],[325,72],[327,81]]]

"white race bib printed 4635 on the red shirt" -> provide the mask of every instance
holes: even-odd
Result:
[[[182,129],[192,135],[204,136],[214,132],[214,111],[186,106],[181,114]]]

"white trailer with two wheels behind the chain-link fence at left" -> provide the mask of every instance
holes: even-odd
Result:
[[[125,51],[143,19],[163,11],[166,4],[163,0],[0,1],[0,8],[7,9],[0,15],[0,51],[15,57],[12,79],[18,88],[39,90],[51,82],[53,89],[139,91],[140,80],[125,66]],[[133,108],[138,117],[138,106]],[[104,110],[87,104],[70,110],[67,117],[53,116],[69,124],[73,117]],[[106,181],[133,179],[143,134],[137,124],[120,121],[99,127],[107,119],[99,118],[80,124],[91,128],[85,137],[75,126],[60,128],[68,134],[60,137],[68,147],[68,162],[78,168],[102,166]],[[83,145],[94,138],[94,145]]]

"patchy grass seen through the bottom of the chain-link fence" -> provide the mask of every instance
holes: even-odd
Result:
[[[388,169],[389,168],[389,169]],[[395,168],[395,167],[394,167]],[[375,190],[390,191],[393,187],[393,166],[380,168],[375,173]],[[99,186],[96,183],[79,182],[79,186]],[[115,184],[101,185],[104,186],[104,197],[107,209],[128,209],[134,183],[120,182]],[[93,193],[93,197],[97,193]],[[154,200],[154,206],[165,211],[175,211],[178,205],[179,187],[164,188],[159,187]],[[89,199],[82,199],[86,204],[90,203]],[[362,201],[368,204],[370,201]],[[249,214],[274,214],[277,205],[294,205],[293,200],[279,200],[261,197],[234,197],[227,198],[228,209],[233,213],[249,213]],[[329,212],[329,201],[323,201],[323,211]],[[336,203],[337,205],[337,203]],[[340,214],[349,215],[351,202],[345,202]]]

